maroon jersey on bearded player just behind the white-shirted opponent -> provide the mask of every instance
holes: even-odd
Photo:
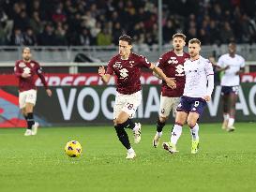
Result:
[[[164,53],[158,60],[157,66],[162,69],[169,78],[175,78],[176,88],[171,89],[165,81],[162,81],[162,96],[178,97],[183,95],[185,86],[184,62],[188,60],[189,54],[183,52],[182,56],[178,56],[174,51]]]

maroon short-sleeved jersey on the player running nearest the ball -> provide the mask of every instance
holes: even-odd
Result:
[[[151,64],[142,55],[133,52],[129,54],[128,60],[122,60],[120,55],[113,56],[108,64],[107,74],[117,77],[117,89],[120,94],[130,95],[142,89],[141,68],[149,68]]]

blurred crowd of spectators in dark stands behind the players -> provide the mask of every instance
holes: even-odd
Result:
[[[112,45],[128,34],[135,44],[158,43],[158,1],[2,0],[0,45]],[[176,32],[203,45],[256,42],[254,0],[163,1],[163,42]]]

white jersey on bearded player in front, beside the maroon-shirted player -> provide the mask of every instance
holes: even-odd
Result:
[[[207,88],[208,76],[214,75],[213,66],[208,59],[202,56],[195,61],[187,60],[184,63],[186,83],[183,96],[203,97],[211,96],[213,82],[210,89]],[[212,76],[213,77],[213,76]]]

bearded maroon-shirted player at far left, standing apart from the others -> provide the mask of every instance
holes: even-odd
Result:
[[[48,96],[52,91],[48,88],[47,82],[42,75],[42,68],[38,62],[31,60],[32,54],[28,47],[23,49],[23,60],[15,63],[14,72],[19,78],[19,104],[24,118],[27,122],[27,129],[24,136],[37,135],[38,122],[34,121],[33,109],[37,101],[37,87],[35,85],[36,74],[41,79]]]

